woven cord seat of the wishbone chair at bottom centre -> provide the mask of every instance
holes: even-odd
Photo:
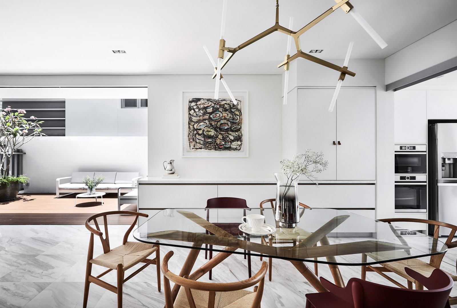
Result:
[[[197,308],[208,307],[208,294],[207,291],[192,290],[192,297],[195,301]],[[246,308],[250,307],[254,301],[255,293],[247,290],[238,290],[231,292],[216,292],[216,299],[214,301],[214,308]],[[174,308],[189,308],[187,301],[186,291],[183,287],[178,292]]]

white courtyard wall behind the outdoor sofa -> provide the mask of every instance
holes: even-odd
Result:
[[[26,193],[55,192],[56,178],[74,171],[148,172],[147,137],[36,137],[22,147],[27,154]]]

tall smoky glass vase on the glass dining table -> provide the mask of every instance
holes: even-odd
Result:
[[[298,179],[284,173],[274,173],[276,177],[275,219],[281,228],[295,228],[300,221],[298,213]],[[294,180],[292,180],[294,179]]]

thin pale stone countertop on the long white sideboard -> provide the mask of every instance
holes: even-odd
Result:
[[[299,184],[312,184],[309,180],[300,180]],[[372,184],[376,181],[319,181],[319,184]],[[138,180],[141,184],[276,184],[276,179],[271,177],[143,177]]]

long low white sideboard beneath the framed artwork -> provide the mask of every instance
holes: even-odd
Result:
[[[314,208],[338,208],[375,218],[375,181],[299,181],[300,202]],[[276,198],[271,177],[144,177],[138,180],[138,211],[155,214],[167,208],[204,208],[209,198],[246,199],[249,207]],[[143,219],[141,219],[143,220]]]

